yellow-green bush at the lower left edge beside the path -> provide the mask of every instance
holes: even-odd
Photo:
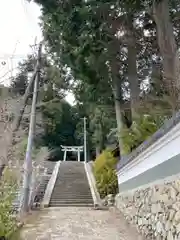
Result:
[[[8,237],[16,230],[12,216],[12,202],[17,189],[17,178],[12,170],[6,169],[0,181],[0,237]]]

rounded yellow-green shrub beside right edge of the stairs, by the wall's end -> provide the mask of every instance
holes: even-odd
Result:
[[[108,150],[103,151],[95,160],[93,170],[101,198],[108,194],[115,195],[118,191],[116,164],[117,159]]]

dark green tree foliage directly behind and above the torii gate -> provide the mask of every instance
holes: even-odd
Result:
[[[72,107],[64,100],[48,101],[43,107],[44,142],[54,148],[60,145],[76,145],[76,119]]]

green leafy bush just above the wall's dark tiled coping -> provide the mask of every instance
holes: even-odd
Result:
[[[144,115],[136,119],[130,128],[124,128],[121,133],[121,138],[123,139],[122,154],[126,155],[136,149],[155,133],[159,126],[156,118],[150,115]]]

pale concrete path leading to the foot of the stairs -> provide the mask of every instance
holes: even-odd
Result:
[[[47,208],[21,231],[22,240],[142,240],[115,210]]]

